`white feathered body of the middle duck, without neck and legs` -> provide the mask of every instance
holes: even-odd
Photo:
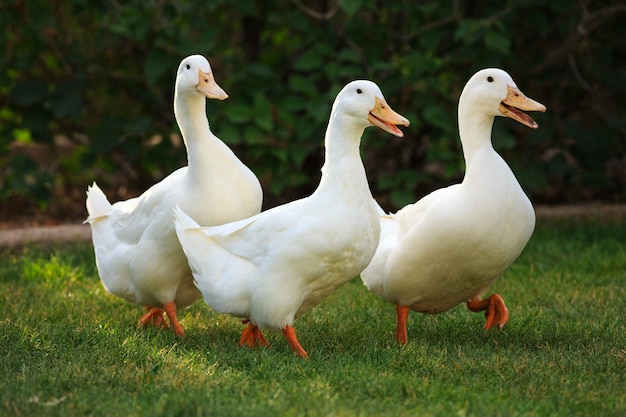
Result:
[[[189,227],[181,242],[205,302],[261,329],[282,329],[357,276],[380,234],[360,171],[345,188],[318,189],[245,221],[210,228],[196,228],[190,217],[179,222]],[[350,204],[333,204],[344,198]]]

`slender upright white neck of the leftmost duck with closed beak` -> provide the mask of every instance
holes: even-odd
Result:
[[[206,172],[210,168],[207,153],[211,153],[215,136],[211,132],[206,115],[206,99],[198,94],[193,97],[174,97],[174,115],[187,149],[188,173]]]

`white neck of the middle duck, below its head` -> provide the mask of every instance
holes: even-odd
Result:
[[[318,189],[337,184],[342,190],[361,192],[363,186],[369,190],[365,168],[359,153],[364,130],[364,126],[355,126],[346,118],[331,115],[324,139],[324,166]],[[333,181],[330,181],[331,178]]]

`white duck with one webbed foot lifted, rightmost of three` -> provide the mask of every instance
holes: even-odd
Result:
[[[537,128],[522,110],[545,111],[506,72],[485,69],[459,100],[466,172],[461,184],[432,192],[396,214],[381,216],[380,244],[361,273],[365,285],[397,306],[396,340],[407,342],[411,310],[439,313],[467,302],[486,310],[485,330],[502,328],[508,311],[483,293],[519,256],[535,227],[533,207],[491,143],[495,116]]]

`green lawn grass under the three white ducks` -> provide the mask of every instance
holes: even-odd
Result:
[[[283,336],[237,345],[243,325],[201,301],[187,338],[137,329],[142,310],[102,288],[91,245],[0,253],[0,415],[623,416],[626,225],[540,221],[490,290],[511,313],[484,333],[464,306],[409,317],[359,280]]]

